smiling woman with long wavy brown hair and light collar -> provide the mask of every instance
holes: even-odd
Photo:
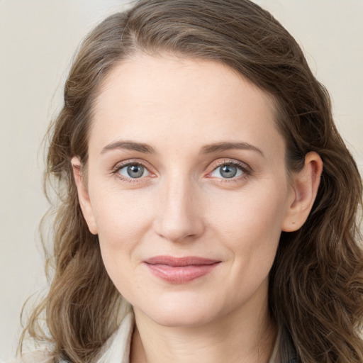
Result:
[[[47,176],[55,272],[24,359],[363,361],[362,183],[259,6],[148,0],[97,26]]]

